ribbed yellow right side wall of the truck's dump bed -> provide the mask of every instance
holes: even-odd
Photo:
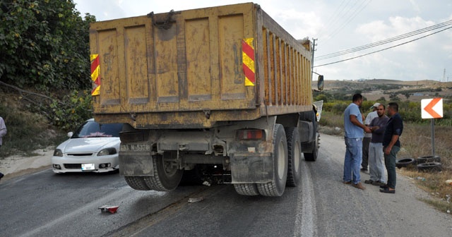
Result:
[[[262,114],[277,115],[312,109],[311,55],[264,11],[262,15]],[[259,18],[259,17],[258,17]]]

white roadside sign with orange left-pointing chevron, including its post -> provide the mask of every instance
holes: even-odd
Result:
[[[431,119],[432,124],[432,155],[435,155],[435,121],[443,117],[443,98],[421,100],[422,119]]]

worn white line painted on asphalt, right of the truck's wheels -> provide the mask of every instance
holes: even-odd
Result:
[[[314,186],[311,181],[311,172],[306,162],[302,162],[302,188],[297,198],[297,217],[295,219],[294,236],[316,236],[316,200]]]

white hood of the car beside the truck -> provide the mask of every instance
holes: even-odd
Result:
[[[119,151],[119,138],[71,138],[61,143],[57,149],[63,153],[100,152],[104,148],[114,147]]]

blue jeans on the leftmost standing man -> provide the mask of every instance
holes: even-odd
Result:
[[[345,138],[345,160],[343,181],[361,182],[359,168],[362,162],[362,138]]]

